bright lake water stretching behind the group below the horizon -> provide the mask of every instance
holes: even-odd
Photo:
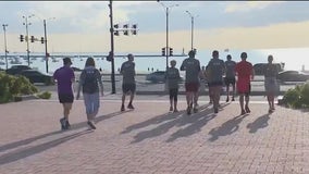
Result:
[[[256,63],[265,63],[267,58],[269,54],[272,54],[274,57],[274,63],[285,63],[285,70],[302,70],[306,67],[309,67],[309,48],[291,48],[291,49],[256,49],[256,50],[219,50],[220,52],[220,59],[225,60],[227,54],[231,54],[233,60],[238,62],[240,61],[240,53],[247,52],[248,54],[248,61],[250,61],[252,64]],[[211,59],[211,52],[212,50],[197,50],[196,58],[200,61],[201,66],[207,65],[209,60]],[[115,54],[122,54],[125,55],[129,52],[116,52]],[[141,54],[160,54],[161,52],[133,52],[135,55],[141,55]],[[26,53],[18,53],[20,55],[25,55]],[[15,55],[18,55],[15,54]],[[36,58],[30,57],[32,67],[38,69],[41,72],[46,72],[46,61],[44,58],[45,53],[34,53],[36,55],[41,55]],[[55,54],[55,53],[54,53]],[[102,53],[94,53],[94,52],[84,52],[84,53],[57,53],[57,54],[63,54],[69,55],[72,58],[73,66],[83,69],[85,66],[85,62],[88,55],[107,55],[106,52]],[[182,54],[180,52],[174,52],[174,54]],[[12,55],[12,54],[10,54]],[[30,54],[32,55],[32,54]],[[53,54],[51,53],[51,57]],[[79,55],[79,57],[73,57],[73,55]],[[176,67],[180,67],[182,61],[186,59],[187,57],[170,57],[169,61],[176,60],[177,65]],[[10,63],[11,60],[9,60],[9,67],[13,64]],[[27,61],[20,59],[22,64],[27,65]],[[111,71],[111,63],[106,61],[104,58],[95,58],[97,67],[101,67],[104,72]],[[115,71],[121,66],[121,64],[126,61],[125,57],[116,57],[115,58]],[[1,63],[4,61],[3,53],[0,54],[0,67],[5,69],[5,64]],[[151,72],[157,70],[164,70],[166,60],[165,57],[135,57],[135,63],[136,63],[136,71],[138,73],[147,73],[148,69]],[[48,60],[49,65],[49,73],[54,72],[54,70],[62,66],[62,58],[55,58],[55,59],[49,59]]]

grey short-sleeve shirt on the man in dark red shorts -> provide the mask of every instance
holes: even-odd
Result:
[[[199,60],[194,58],[185,59],[182,63],[181,70],[186,71],[186,83],[199,83]]]

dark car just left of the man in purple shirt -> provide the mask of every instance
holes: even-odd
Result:
[[[20,75],[27,77],[32,84],[35,84],[35,83],[42,83],[45,85],[54,84],[51,75],[44,74],[37,70],[24,70],[20,73]]]

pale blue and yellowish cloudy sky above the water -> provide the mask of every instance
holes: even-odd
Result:
[[[25,52],[20,35],[44,36],[47,22],[49,52],[108,52],[109,1],[0,1],[0,24],[8,24],[10,52]],[[166,45],[174,52],[205,49],[309,48],[307,1],[113,1],[114,24],[137,24],[137,35],[114,36],[115,52],[158,52]],[[169,9],[169,11],[168,11]],[[188,11],[190,15],[186,12]],[[193,16],[193,17],[191,17]],[[191,25],[194,20],[194,25]],[[191,30],[191,26],[194,29]],[[194,37],[191,38],[191,32]],[[4,52],[4,32],[0,49]],[[40,41],[32,52],[45,52]]]

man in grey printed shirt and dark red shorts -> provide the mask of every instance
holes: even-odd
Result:
[[[181,65],[181,71],[186,71],[186,99],[187,99],[187,114],[191,113],[191,109],[196,113],[199,89],[199,74],[200,63],[195,59],[195,51],[189,51],[189,58],[185,59]],[[193,105],[194,104],[194,105]]]

